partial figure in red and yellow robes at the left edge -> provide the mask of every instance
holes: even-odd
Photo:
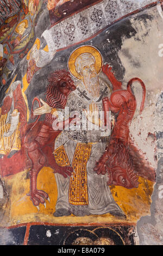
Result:
[[[27,107],[21,81],[12,82],[0,108],[0,157],[13,156],[21,149],[27,125]]]

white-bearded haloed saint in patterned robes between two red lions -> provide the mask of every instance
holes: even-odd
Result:
[[[79,47],[69,59],[69,69],[79,82],[76,91],[68,97],[67,107],[70,113],[74,110],[82,113],[85,109],[85,120],[90,122],[92,109],[102,111],[102,99],[110,94],[110,88],[98,75],[101,66],[101,54],[92,46]],[[54,216],[110,213],[126,218],[107,186],[107,176],[97,175],[93,170],[106,147],[108,137],[103,137],[103,132],[101,128],[62,131],[56,139],[54,155],[64,146],[74,172],[66,179],[55,174],[58,200]]]

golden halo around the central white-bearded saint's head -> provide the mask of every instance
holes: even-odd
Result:
[[[95,47],[91,45],[84,45],[84,46],[78,47],[76,50],[74,50],[71,53],[71,56],[68,59],[68,69],[70,70],[71,74],[74,77],[78,78],[79,80],[82,79],[82,76],[80,76],[76,71],[76,66],[74,65],[74,63],[76,62],[77,57],[82,53],[91,53],[93,55],[93,57],[96,60],[95,68],[96,68],[97,74],[101,72],[101,68],[103,65],[102,55]]]

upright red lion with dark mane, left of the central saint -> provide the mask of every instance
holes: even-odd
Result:
[[[55,71],[48,80],[48,88],[46,93],[46,103],[49,107],[63,109],[66,106],[68,95],[76,89],[70,77],[69,72],[65,70]],[[35,98],[34,101],[39,99]],[[33,103],[34,103],[33,101]],[[32,117],[33,108],[32,108]],[[30,196],[33,204],[39,209],[39,204],[44,204],[46,207],[46,200],[49,200],[48,194],[42,190],[37,190],[36,180],[42,167],[51,167],[55,173],[62,174],[65,178],[67,175],[71,176],[72,167],[60,167],[53,155],[54,141],[61,130],[53,130],[53,121],[57,119],[52,112],[47,113],[44,121],[39,121],[40,115],[37,117],[35,123],[28,126],[27,134],[24,138],[24,145],[27,150],[28,158],[31,162],[30,174]],[[73,118],[64,121],[63,127],[68,125]],[[58,123],[60,126],[60,123]]]

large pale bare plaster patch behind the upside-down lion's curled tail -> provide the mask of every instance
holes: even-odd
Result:
[[[137,86],[134,86],[134,93],[137,99],[137,111],[135,113],[135,120],[130,125],[130,131],[132,138],[136,140],[139,148],[146,152],[148,160],[156,167],[155,131],[158,122],[156,122],[157,114],[155,113],[155,106],[163,85],[161,72],[162,60],[158,54],[158,46],[162,42],[162,24],[156,9],[154,10],[153,19],[150,19],[150,16],[152,17],[150,11],[148,11],[148,15],[148,21],[146,20],[144,22],[140,18],[140,22],[137,24],[135,18],[131,18],[132,26],[137,31],[137,35],[132,39],[124,39],[124,44],[118,56],[121,59],[122,65],[126,67],[124,83],[131,77],[131,73],[134,69],[135,76],[144,77],[145,84],[148,85],[146,107],[140,117],[139,106],[141,97],[139,96],[139,89],[137,89]],[[149,27],[146,26],[147,23]],[[160,27],[156,30],[155,28],[158,24]],[[131,45],[132,47],[130,48]],[[137,49],[139,50],[137,51]],[[149,54],[147,54],[148,51]],[[148,62],[150,65],[147,65]],[[154,63],[160,63],[160,65],[155,66]],[[130,66],[132,66],[132,69],[130,69]],[[153,84],[155,84],[154,90]],[[151,152],[153,152],[154,155],[151,154]]]

